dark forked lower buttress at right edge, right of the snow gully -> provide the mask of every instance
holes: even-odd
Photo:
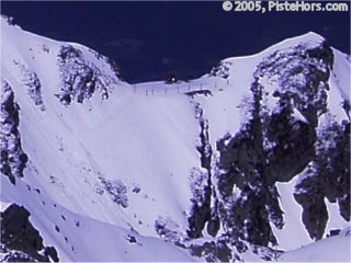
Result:
[[[340,215],[350,220],[350,123],[327,123],[320,128],[316,157],[295,186],[303,206],[303,221],[310,238],[322,238],[328,221],[325,197],[338,203]]]

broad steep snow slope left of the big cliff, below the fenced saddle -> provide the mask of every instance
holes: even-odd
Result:
[[[188,98],[134,94],[89,48],[1,26],[1,201],[64,261],[191,260],[155,238],[186,229],[200,163]]]

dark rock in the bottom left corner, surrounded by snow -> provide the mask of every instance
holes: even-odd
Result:
[[[9,262],[58,262],[57,251],[44,247],[43,238],[30,222],[30,213],[12,204],[1,213],[1,250]]]

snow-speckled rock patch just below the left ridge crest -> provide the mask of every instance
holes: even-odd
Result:
[[[102,57],[98,57],[102,59]],[[73,46],[63,46],[57,55],[58,67],[61,73],[63,85],[57,94],[60,102],[69,105],[72,101],[83,103],[92,96],[95,91],[100,91],[103,99],[109,98],[109,85],[116,79],[110,78],[94,65],[87,62],[82,52]],[[112,60],[107,60],[111,62]],[[116,71],[116,66],[110,65],[112,71]]]

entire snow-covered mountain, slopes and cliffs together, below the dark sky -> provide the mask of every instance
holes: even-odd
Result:
[[[314,33],[131,85],[1,19],[1,80],[5,260],[272,260],[349,226],[350,57]]]

